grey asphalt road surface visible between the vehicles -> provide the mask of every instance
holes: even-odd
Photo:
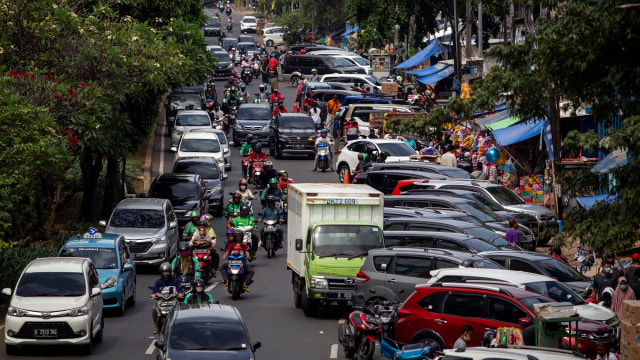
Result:
[[[223,15],[223,19],[226,16]],[[234,27],[229,35],[237,37],[240,33],[240,14],[233,13]],[[223,24],[226,21],[223,20]],[[210,44],[217,44],[217,38],[207,38]],[[238,69],[239,70],[239,69]],[[258,82],[248,86],[250,94],[258,92]],[[221,85],[218,85],[221,88]],[[292,110],[295,89],[289,84],[280,87],[288,110]],[[170,172],[173,165],[173,153],[169,151],[170,138],[166,136],[164,112],[158,119],[154,133],[151,179],[161,172]],[[285,157],[283,160],[271,159],[277,170],[286,169],[295,182],[336,182],[335,173],[312,172],[312,160],[305,158]],[[232,149],[232,165],[229,179],[226,181],[225,193],[234,191],[240,180],[240,157],[238,149]],[[228,200],[227,195],[225,201]],[[260,209],[258,202],[255,209]],[[214,219],[214,230],[220,239],[224,238],[226,225],[224,219]],[[283,229],[286,236],[286,225]],[[286,240],[286,239],[285,239]],[[286,248],[286,246],[285,246]],[[219,250],[218,250],[219,251]],[[250,332],[252,341],[261,341],[262,348],[257,350],[256,357],[266,360],[281,359],[336,359],[344,358],[342,349],[337,345],[337,327],[344,310],[324,310],[318,318],[307,318],[300,309],[293,305],[291,290],[291,272],[286,269],[286,254],[283,250],[277,257],[267,259],[263,249],[258,259],[252,263],[255,267],[255,282],[251,292],[245,293],[240,300],[232,301],[224,291],[219,279],[213,279],[207,291],[215,300],[223,304],[236,306],[242,314]],[[153,359],[153,324],[151,321],[152,301],[148,298],[150,290],[159,274],[157,269],[138,269],[137,293],[138,301],[129,307],[123,317],[107,314],[105,320],[104,339],[94,347],[92,359],[133,360]],[[4,332],[2,332],[4,336]],[[68,359],[74,349],[67,347],[26,348],[22,356],[6,357],[4,350],[0,358],[5,359]],[[81,356],[76,356],[81,357]],[[376,356],[379,358],[379,356]]]

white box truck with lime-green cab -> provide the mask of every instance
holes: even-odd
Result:
[[[384,247],[383,194],[368,185],[289,184],[287,268],[296,307],[347,305],[370,249]]]

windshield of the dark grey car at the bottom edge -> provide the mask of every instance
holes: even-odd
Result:
[[[233,351],[249,346],[240,322],[178,322],[169,335],[169,347],[173,350]]]

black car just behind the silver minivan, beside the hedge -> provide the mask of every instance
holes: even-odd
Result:
[[[189,222],[188,213],[192,210],[201,214],[209,212],[209,196],[204,181],[197,174],[158,175],[151,183],[149,197],[171,201],[180,226]]]

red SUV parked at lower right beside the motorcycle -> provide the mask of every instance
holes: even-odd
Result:
[[[452,348],[464,325],[473,327],[467,346],[480,346],[488,329],[533,324],[533,304],[553,300],[519,287],[504,285],[435,283],[417,285],[416,291],[398,310],[396,340],[403,343],[435,341],[440,348]],[[616,338],[615,331],[600,322],[578,323],[578,350],[595,356],[598,341]],[[527,341],[527,334],[525,341]],[[569,339],[563,339],[568,347]]]

